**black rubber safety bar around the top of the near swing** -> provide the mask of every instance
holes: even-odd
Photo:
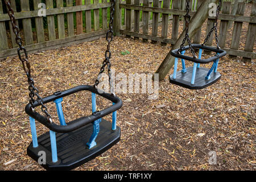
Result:
[[[89,90],[90,92],[96,93],[99,96],[102,96],[115,104],[104,109],[101,111],[98,111],[97,113],[94,113],[87,117],[81,117],[79,119],[75,119],[71,122],[67,123],[67,126],[60,126],[56,125],[55,123],[48,122],[47,118],[43,115],[37,113],[36,111],[31,110],[31,104],[26,105],[25,111],[30,117],[36,119],[36,121],[39,121],[44,126],[48,127],[49,130],[55,131],[57,133],[68,133],[71,131],[74,131],[76,129],[79,129],[82,126],[88,125],[89,123],[92,123],[93,121],[96,121],[97,119],[100,119],[104,117],[105,115],[108,115],[110,113],[113,113],[114,111],[120,109],[122,107],[122,100],[117,96],[112,96],[112,94],[109,93],[98,93],[97,89],[95,89],[93,86],[90,85],[80,85],[76,86],[75,88],[71,88],[68,90],[65,90],[63,92],[55,92],[51,96],[43,98],[43,104],[46,104],[48,102],[55,101],[57,98],[69,96],[70,94],[80,92],[82,90]],[[35,107],[40,106],[38,102],[35,102]]]

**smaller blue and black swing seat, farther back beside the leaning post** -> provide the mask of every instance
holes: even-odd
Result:
[[[183,86],[188,89],[203,89],[206,88],[221,78],[221,74],[217,72],[218,61],[221,57],[226,55],[226,51],[209,46],[203,46],[201,44],[191,44],[193,49],[199,49],[198,59],[191,56],[186,56],[185,51],[189,49],[189,46],[171,51],[171,55],[175,57],[174,74],[170,75],[169,80],[172,84]],[[215,52],[216,55],[209,57],[208,59],[201,59],[203,50]],[[177,72],[178,59],[181,59],[182,70]],[[192,61],[193,67],[186,68],[185,60]],[[213,62],[210,69],[200,67],[200,64],[209,64]]]

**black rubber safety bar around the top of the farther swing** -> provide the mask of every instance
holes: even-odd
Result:
[[[194,63],[201,63],[201,64],[207,64],[210,62],[213,62],[217,59],[220,59],[221,57],[226,55],[226,51],[222,50],[222,49],[217,49],[214,47],[209,47],[209,46],[203,46],[201,44],[192,44],[192,48],[199,48],[199,49],[203,49],[203,50],[207,50],[207,51],[212,51],[212,52],[216,52],[216,55],[209,57],[208,59],[197,59],[194,57],[190,57],[190,56],[186,56],[186,55],[181,55],[178,51],[179,49],[175,49],[171,51],[171,55],[180,59],[184,59],[184,60],[188,60],[188,61],[192,61]],[[189,49],[189,46],[185,46],[182,51],[185,51]],[[181,51],[181,52],[182,52]],[[217,54],[219,53],[219,54]]]

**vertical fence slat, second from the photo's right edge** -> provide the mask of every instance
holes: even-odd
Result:
[[[236,15],[241,15],[245,13],[245,3],[238,3],[237,5],[237,13]],[[240,43],[240,38],[241,38],[241,31],[242,31],[242,22],[234,22],[234,29],[233,29],[233,34],[232,34],[232,42],[231,42],[231,49],[238,50],[239,48],[239,43]],[[237,56],[229,55],[231,59],[236,59]]]

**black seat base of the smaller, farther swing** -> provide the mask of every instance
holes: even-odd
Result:
[[[173,78],[173,75],[170,75],[169,80],[172,84],[182,86],[188,89],[204,89],[208,86],[214,84],[221,78],[221,74],[219,72],[212,72],[210,74],[210,79],[205,80],[209,69],[207,68],[196,68],[196,77],[195,84],[191,84],[191,78],[193,73],[193,67],[187,68],[186,73],[182,73],[181,71],[177,72],[176,79]]]

